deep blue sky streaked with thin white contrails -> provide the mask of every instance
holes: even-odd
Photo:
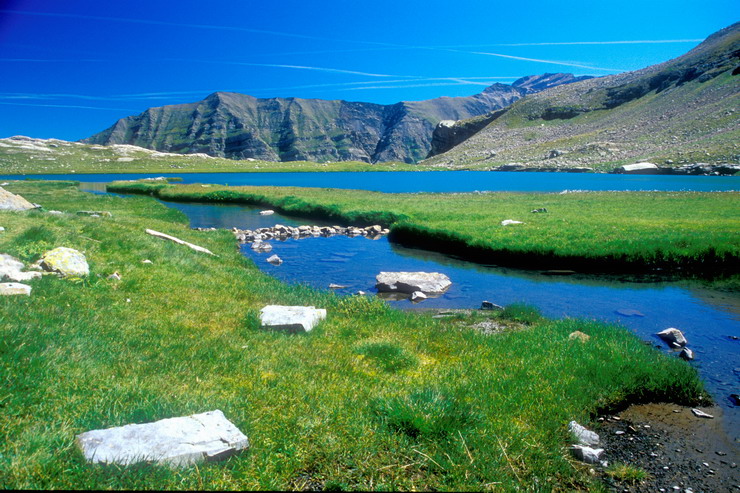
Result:
[[[0,0],[0,137],[77,140],[215,91],[375,103],[685,53],[737,0]]]

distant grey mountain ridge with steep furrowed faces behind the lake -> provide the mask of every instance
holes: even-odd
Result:
[[[197,103],[150,108],[82,142],[232,159],[414,163],[429,153],[440,121],[484,115],[526,94],[581,79],[529,76],[474,96],[392,105],[217,92]]]

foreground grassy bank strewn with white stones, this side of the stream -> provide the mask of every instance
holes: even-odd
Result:
[[[70,183],[6,187],[0,252],[83,250],[84,280],[0,298],[0,484],[73,489],[599,489],[568,454],[571,419],[625,400],[695,403],[696,372],[623,329],[522,307],[483,335],[261,273],[228,231],[190,230],[145,197]],[[112,217],[77,216],[105,210]],[[152,228],[206,247],[194,252]],[[142,260],[149,259],[151,264]],[[121,280],[108,279],[118,271]],[[326,308],[306,335],[259,329],[268,304]],[[569,340],[580,330],[586,343]],[[87,465],[81,432],[221,409],[251,448],[198,467]]]

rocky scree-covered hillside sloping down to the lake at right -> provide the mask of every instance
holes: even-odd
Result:
[[[508,169],[738,163],[739,106],[740,23],[668,62],[560,85],[492,114],[445,122],[425,163]]]

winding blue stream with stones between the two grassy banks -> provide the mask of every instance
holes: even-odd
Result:
[[[192,227],[255,229],[275,224],[328,224],[280,214],[259,215],[259,208],[238,205],[166,203],[184,212]],[[618,323],[668,351],[654,334],[668,327],[684,332],[696,366],[710,392],[723,407],[728,432],[740,433],[740,408],[729,395],[740,391],[740,299],[722,292],[688,288],[677,282],[624,282],[615,277],[552,277],[539,272],[481,265],[448,255],[394,245],[386,238],[364,237],[270,240],[269,253],[256,253],[249,244],[242,253],[263,271],[287,283],[303,283],[349,295],[358,290],[375,295],[375,276],[381,271],[441,272],[452,287],[439,298],[419,304],[389,301],[402,309],[478,308],[482,300],[499,305],[524,302],[549,317],[597,319]],[[277,254],[281,265],[266,261]],[[626,316],[620,314],[632,313]],[[639,312],[638,314],[634,314]],[[677,356],[677,353],[673,353]]]

